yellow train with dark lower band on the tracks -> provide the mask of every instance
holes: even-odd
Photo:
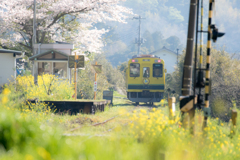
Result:
[[[126,70],[127,97],[130,101],[160,102],[165,87],[164,61],[154,55],[133,56]]]

